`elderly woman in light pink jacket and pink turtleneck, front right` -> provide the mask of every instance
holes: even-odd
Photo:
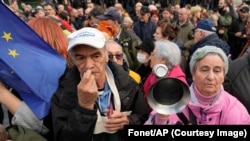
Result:
[[[194,52],[189,65],[193,76],[189,88],[191,98],[182,113],[192,121],[191,124],[250,124],[250,116],[243,104],[223,89],[228,58],[222,49],[214,46],[199,48]],[[162,115],[156,115],[156,121],[162,119],[159,118]],[[164,122],[167,121],[168,124],[184,123],[176,114],[165,118]],[[150,124],[149,120],[146,123]]]

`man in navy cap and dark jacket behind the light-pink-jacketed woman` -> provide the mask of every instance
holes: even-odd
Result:
[[[220,39],[216,33],[216,28],[214,26],[214,23],[210,19],[203,19],[200,20],[197,24],[197,26],[194,28],[194,44],[189,49],[189,57],[188,57],[188,63],[193,55],[193,53],[201,47],[204,46],[216,46],[221,48],[226,55],[229,55],[229,45],[227,42]],[[188,83],[191,84],[192,82],[192,76],[189,70],[189,67],[187,67],[187,80]]]

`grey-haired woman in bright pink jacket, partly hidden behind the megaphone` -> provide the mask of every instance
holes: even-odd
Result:
[[[166,77],[174,77],[186,82],[186,75],[180,67],[181,51],[179,47],[172,41],[155,41],[155,48],[150,56],[150,67],[153,68],[157,64],[164,64],[168,68]],[[157,81],[157,77],[153,72],[146,79],[143,89],[147,96],[149,88]]]

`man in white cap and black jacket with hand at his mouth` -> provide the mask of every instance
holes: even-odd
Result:
[[[124,125],[143,124],[149,107],[139,85],[108,61],[105,37],[85,27],[68,36],[75,64],[52,98],[55,141],[120,141]]]

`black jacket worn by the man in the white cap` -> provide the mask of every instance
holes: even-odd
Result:
[[[113,72],[120,95],[121,111],[132,111],[131,115],[128,116],[130,124],[144,124],[150,113],[150,108],[139,85],[129,77],[128,72],[122,66],[113,62],[109,62],[108,65]],[[69,69],[61,79],[59,88],[52,98],[51,109],[55,141],[91,141],[93,138],[94,140],[110,140],[114,137],[113,134],[93,134],[97,121],[97,109],[89,110],[78,105],[77,85],[79,82],[80,74],[77,68]],[[123,138],[122,131],[117,134],[118,138]]]

